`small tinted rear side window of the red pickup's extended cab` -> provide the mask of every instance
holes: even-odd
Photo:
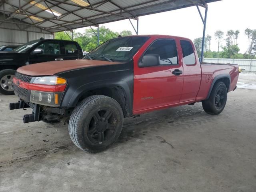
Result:
[[[186,65],[196,64],[196,56],[192,44],[187,40],[180,40],[180,46],[183,54],[183,63]]]

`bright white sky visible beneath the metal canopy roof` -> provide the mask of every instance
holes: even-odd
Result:
[[[256,29],[255,16],[256,0],[222,0],[208,4],[206,34],[212,36],[210,49],[218,50],[218,41],[214,37],[216,30],[224,32],[224,39],[228,30],[239,30],[238,47],[240,53],[248,49],[248,38],[244,34],[246,28]],[[200,8],[204,15],[204,8]],[[129,20],[122,20],[102,24],[112,31],[130,30],[135,34]],[[100,25],[100,26],[102,26]],[[136,21],[134,20],[134,26]],[[84,28],[77,29],[83,32]],[[139,34],[165,34],[183,36],[194,40],[202,37],[203,23],[196,6],[173,10],[158,14],[139,17]],[[226,42],[222,40],[224,46]]]

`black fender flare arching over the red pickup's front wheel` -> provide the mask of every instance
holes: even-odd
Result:
[[[108,87],[114,87],[114,86],[120,86],[124,90],[128,111],[130,114],[132,114],[133,90],[129,88],[127,82],[119,79],[89,82],[81,85],[76,90],[71,90],[69,88],[62,100],[62,106],[67,108],[74,108],[78,100],[81,98],[81,96],[84,93],[90,90],[98,89],[98,88],[108,88]]]

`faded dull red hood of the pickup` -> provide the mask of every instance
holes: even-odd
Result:
[[[54,75],[63,71],[74,70],[78,68],[97,67],[103,65],[120,64],[120,62],[108,62],[99,60],[64,60],[64,61],[50,61],[44,63],[37,63],[26,65],[18,68],[17,72],[29,76],[45,76]]]

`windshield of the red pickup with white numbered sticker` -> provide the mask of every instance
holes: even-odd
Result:
[[[149,37],[127,36],[106,41],[84,59],[125,62],[130,60]]]

